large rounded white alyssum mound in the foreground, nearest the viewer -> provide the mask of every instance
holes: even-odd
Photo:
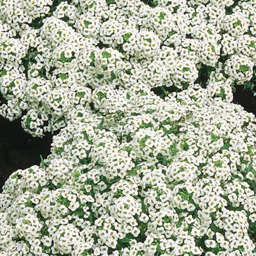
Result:
[[[0,255],[256,255],[255,116],[209,92],[135,84],[73,108],[4,186]]]

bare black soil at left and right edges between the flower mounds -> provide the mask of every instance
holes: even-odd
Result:
[[[248,112],[256,114],[256,100],[252,93],[238,88],[233,103],[240,104]],[[40,154],[46,158],[50,154],[52,134],[44,138],[34,138],[23,131],[20,119],[13,122],[0,117],[0,192],[12,172],[39,165]]]

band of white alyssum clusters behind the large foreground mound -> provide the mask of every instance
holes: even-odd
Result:
[[[22,116],[42,137],[67,124],[100,85],[174,91],[211,71],[253,89],[256,5],[251,1],[3,0],[0,115]],[[225,82],[212,90],[225,89]]]

